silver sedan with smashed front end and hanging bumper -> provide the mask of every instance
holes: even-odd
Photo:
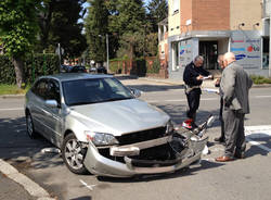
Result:
[[[139,96],[109,75],[43,76],[26,93],[27,133],[60,148],[76,174],[169,173],[199,160],[207,139],[176,134],[170,117]]]

